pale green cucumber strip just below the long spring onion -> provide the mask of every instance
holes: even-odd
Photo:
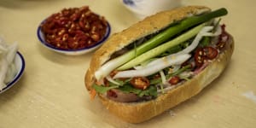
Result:
[[[200,32],[204,26],[205,26],[205,24],[196,26],[196,27],[190,29],[188,32],[185,32],[182,35],[178,36],[177,38],[174,38],[171,41],[166,42],[165,44],[161,44],[160,46],[155,47],[154,49],[148,50],[147,52],[143,53],[142,55],[137,56],[135,59],[125,63],[125,65],[119,67],[118,70],[125,70],[125,69],[129,69],[131,67],[135,67],[138,64],[142,63],[143,61],[147,61],[150,58],[160,55],[161,53],[165,52],[167,49],[177,46],[178,44],[183,43],[184,41],[188,40],[189,38],[195,37],[195,35],[198,32]]]

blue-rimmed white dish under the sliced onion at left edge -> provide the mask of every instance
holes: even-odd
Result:
[[[15,85],[15,83],[19,81],[21,75],[24,73],[25,60],[20,52],[17,52],[17,54],[15,55],[15,67],[17,68],[17,73],[15,74],[14,79],[9,82],[6,87],[3,88],[3,90],[0,90],[0,94],[3,93],[5,90],[9,90],[10,87]]]

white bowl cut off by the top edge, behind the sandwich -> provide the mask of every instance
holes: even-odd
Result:
[[[120,0],[121,3],[130,9],[137,17],[143,19],[148,15],[154,15],[155,13],[173,9],[181,4],[181,0]]]

